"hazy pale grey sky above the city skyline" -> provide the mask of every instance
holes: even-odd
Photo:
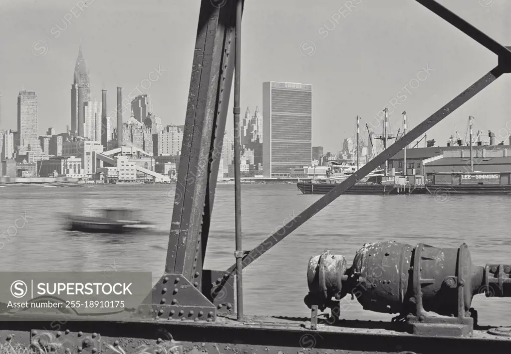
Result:
[[[312,84],[313,145],[338,151],[344,138],[354,137],[357,115],[363,125],[375,122],[388,105],[394,132],[402,126],[403,110],[413,127],[497,63],[493,53],[413,0],[354,3],[359,5],[350,10],[345,0],[246,0],[242,112],[262,105],[264,81]],[[505,22],[511,2],[440,3],[511,45],[511,24]],[[183,124],[199,5],[199,0],[0,0],[0,128],[17,127],[16,97],[23,86],[38,95],[39,132],[65,131],[80,39],[91,95],[101,99],[101,89],[107,89],[108,112],[115,109],[116,86],[127,97],[159,67],[159,74],[151,74],[155,81],[144,81],[149,87],[142,90],[151,95],[162,123]],[[422,70],[428,67],[426,76]],[[423,81],[413,80],[417,76]],[[464,138],[473,115],[474,129],[486,136],[491,129],[502,140],[511,133],[508,82],[501,77],[431,129],[428,139],[445,145],[454,126]]]

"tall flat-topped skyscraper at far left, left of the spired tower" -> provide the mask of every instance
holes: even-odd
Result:
[[[15,146],[22,151],[41,152],[37,133],[37,95],[34,91],[20,91],[18,95],[18,134]]]

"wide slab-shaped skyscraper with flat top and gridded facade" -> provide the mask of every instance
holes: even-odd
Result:
[[[312,85],[263,83],[263,170],[289,176],[312,162]]]

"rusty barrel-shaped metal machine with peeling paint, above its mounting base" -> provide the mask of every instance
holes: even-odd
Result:
[[[346,269],[329,251],[312,257],[305,302],[330,307],[332,297],[352,294],[364,309],[380,313],[434,312],[459,316],[476,294],[511,297],[511,265],[472,263],[467,245],[415,247],[395,241],[366,244]]]

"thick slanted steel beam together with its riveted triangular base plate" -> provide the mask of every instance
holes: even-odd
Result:
[[[203,270],[234,72],[236,2],[202,0],[165,273],[151,294],[156,318],[212,321],[234,303],[223,272]]]

